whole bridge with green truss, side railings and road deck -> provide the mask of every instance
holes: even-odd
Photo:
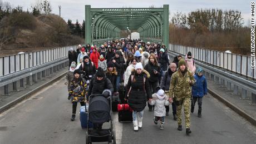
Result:
[[[170,59],[190,51],[208,81],[203,117],[191,113],[191,135],[176,130],[171,115],[159,130],[146,107],[138,132],[114,113],[117,143],[256,143],[256,71],[250,57],[169,44],[168,5],[85,9],[86,44],[99,46],[120,38],[121,31],[137,31],[145,42],[166,44]],[[63,85],[70,48],[77,46],[0,57],[0,143],[85,143],[79,117],[70,121],[72,105]]]

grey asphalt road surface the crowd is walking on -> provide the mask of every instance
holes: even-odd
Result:
[[[85,143],[79,107],[76,120],[70,121],[72,104],[67,100],[67,87],[63,79],[57,81],[0,115],[0,143]],[[117,122],[115,114],[117,143],[256,143],[256,128],[212,96],[203,98],[203,117],[196,117],[197,108],[191,114],[189,136],[184,127],[176,130],[178,124],[172,115],[166,116],[165,129],[160,130],[147,107],[138,132],[133,131],[131,122]]]

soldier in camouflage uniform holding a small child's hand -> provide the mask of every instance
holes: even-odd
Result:
[[[184,106],[186,134],[191,133],[190,130],[190,98],[191,86],[195,80],[193,73],[186,67],[186,62],[181,59],[178,63],[178,71],[171,77],[171,85],[169,88],[169,97],[173,98],[177,106],[178,130],[182,130],[181,110]]]

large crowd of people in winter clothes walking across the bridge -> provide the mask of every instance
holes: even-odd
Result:
[[[202,98],[207,94],[203,69],[195,67],[191,52],[185,58],[174,57],[170,62],[165,44],[130,39],[109,41],[100,47],[86,44],[70,49],[70,67],[66,75],[68,100],[72,101],[71,121],[75,120],[77,103],[88,102],[92,94],[119,93],[120,85],[126,89],[125,101],[132,108],[134,131],[142,127],[146,105],[154,111],[154,123],[169,116],[182,130],[181,111],[184,108],[186,133],[190,130],[190,112],[198,101],[198,117],[201,117]],[[93,126],[101,128],[101,125]]]

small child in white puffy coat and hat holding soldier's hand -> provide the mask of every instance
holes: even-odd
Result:
[[[164,118],[165,118],[165,106],[170,106],[168,96],[165,95],[164,90],[160,89],[160,86],[156,87],[156,93],[152,95],[152,100],[149,104],[155,105],[154,111],[154,123],[157,125],[157,121],[160,121],[160,130],[164,130]]]

